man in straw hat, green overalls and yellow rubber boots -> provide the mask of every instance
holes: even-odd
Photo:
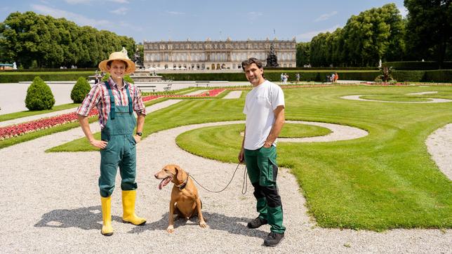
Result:
[[[77,109],[81,129],[93,147],[100,149],[100,200],[102,203],[102,231],[105,236],[113,234],[111,195],[117,168],[121,174],[123,222],[144,225],[146,220],[135,214],[135,196],[137,189],[136,150],[140,142],[145,123],[145,105],[140,91],[131,83],[124,81],[124,75],[135,72],[135,63],[127,51],[114,52],[107,60],[99,64],[102,72],[108,72],[109,78],[91,88],[86,98]],[[93,107],[99,112],[101,140],[96,140],[91,133],[88,114]],[[137,118],[133,112],[137,113]],[[136,126],[136,133],[133,130]]]

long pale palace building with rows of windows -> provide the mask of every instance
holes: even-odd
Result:
[[[241,69],[241,62],[258,58],[264,65],[270,46],[278,57],[279,67],[296,67],[296,42],[265,41],[144,41],[145,68],[161,69]]]

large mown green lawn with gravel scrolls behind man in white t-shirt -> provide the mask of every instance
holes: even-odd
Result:
[[[430,133],[452,122],[452,103],[340,99],[344,95],[404,98],[406,93],[422,91],[440,91],[441,98],[452,99],[450,86],[284,90],[287,120],[340,123],[369,133],[357,140],[279,143],[279,166],[291,168],[318,225],[371,230],[452,227],[451,180],[439,171],[425,146]],[[192,123],[244,120],[243,106],[244,98],[186,100],[149,114],[144,135]],[[203,128],[182,134],[178,145],[211,159],[237,161],[239,129]],[[82,139],[68,147],[77,151],[89,145]]]

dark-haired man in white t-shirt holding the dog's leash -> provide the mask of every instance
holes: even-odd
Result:
[[[251,229],[269,224],[265,246],[277,246],[284,238],[283,210],[277,187],[277,138],[284,125],[284,93],[276,84],[264,79],[262,62],[249,58],[241,63],[246,79],[253,85],[246,95],[246,126],[239,161],[245,161],[258,218],[248,222]]]

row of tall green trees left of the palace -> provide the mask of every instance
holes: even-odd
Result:
[[[25,68],[97,67],[109,53],[122,47],[133,58],[135,41],[130,37],[32,11],[11,13],[0,23],[0,61]]]

